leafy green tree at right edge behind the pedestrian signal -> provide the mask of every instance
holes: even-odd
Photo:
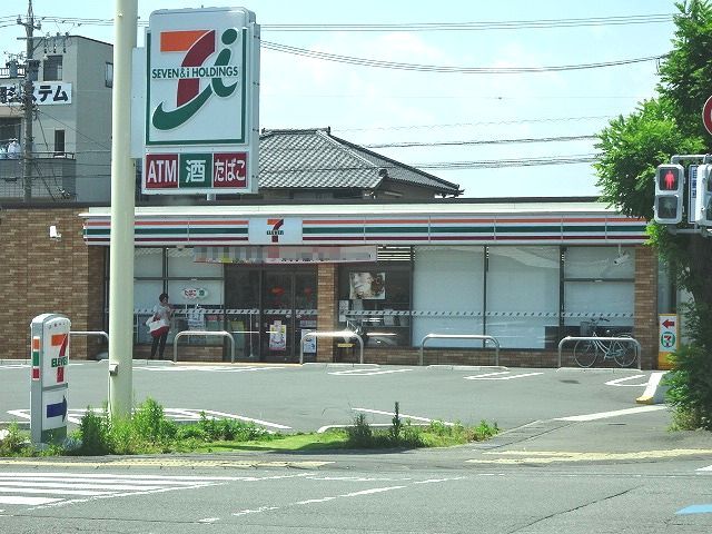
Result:
[[[710,152],[701,111],[712,95],[712,8],[708,0],[676,3],[673,49],[660,66],[656,97],[599,134],[594,164],[602,199],[623,214],[653,216],[655,168],[675,154]],[[678,225],[685,227],[684,224]],[[651,245],[693,296],[691,348],[678,352],[672,402],[692,425],[712,429],[712,238],[649,226]]]

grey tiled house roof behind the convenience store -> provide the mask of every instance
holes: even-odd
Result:
[[[265,189],[376,189],[384,179],[459,195],[459,186],[367,150],[328,129],[265,130],[259,187]]]

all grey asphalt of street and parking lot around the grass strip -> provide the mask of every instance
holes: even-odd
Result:
[[[2,414],[16,418],[8,411],[29,406],[28,369],[2,365]],[[139,399],[184,416],[315,429],[357,409],[387,422],[374,411],[399,400],[406,414],[505,432],[427,451],[0,458],[0,532],[712,532],[712,438],[671,433],[664,406],[635,404],[650,372],[366,368],[388,373],[139,363],[134,377]],[[106,398],[106,363],[69,370],[72,407]]]

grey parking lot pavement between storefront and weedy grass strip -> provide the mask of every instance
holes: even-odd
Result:
[[[70,409],[106,402],[107,362],[78,362],[68,369]],[[2,363],[0,421],[21,419],[29,409],[24,363]],[[536,421],[592,417],[623,421],[635,408],[651,372],[637,369],[551,369],[467,366],[378,366],[308,364],[208,364],[137,362],[135,398],[151,397],[167,412],[212,411],[313,432],[352,424],[364,413],[388,424],[397,402],[414,423],[444,421],[516,428]],[[10,413],[8,413],[10,412]],[[11,413],[14,413],[12,415]],[[619,414],[619,415],[615,415]],[[650,417],[645,411],[625,417]],[[611,423],[613,424],[613,423]]]

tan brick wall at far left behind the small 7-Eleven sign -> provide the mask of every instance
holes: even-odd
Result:
[[[63,314],[72,330],[101,330],[103,247],[87,247],[78,208],[4,208],[0,218],[0,357],[29,356],[29,327]],[[50,225],[61,234],[49,239]],[[101,338],[73,336],[71,358],[96,357]]]

